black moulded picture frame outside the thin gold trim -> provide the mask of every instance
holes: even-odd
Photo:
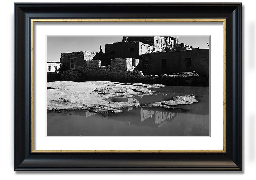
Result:
[[[225,153],[31,153],[31,19],[226,19]],[[14,170],[242,170],[241,3],[14,3]]]

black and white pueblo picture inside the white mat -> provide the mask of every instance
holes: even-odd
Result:
[[[46,39],[47,136],[211,135],[210,36]]]

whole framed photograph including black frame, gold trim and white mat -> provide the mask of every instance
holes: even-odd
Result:
[[[14,170],[242,170],[241,3],[14,3]]]

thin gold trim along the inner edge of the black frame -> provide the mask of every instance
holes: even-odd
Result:
[[[223,150],[34,150],[33,22],[223,22]],[[31,19],[31,153],[225,153],[226,152],[226,19]]]

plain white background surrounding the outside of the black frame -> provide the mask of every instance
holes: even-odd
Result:
[[[13,171],[13,2],[1,3],[1,179],[254,179],[255,177],[255,5],[252,0],[243,3],[243,171],[242,172],[14,172]],[[15,2],[23,2],[16,0]],[[27,1],[27,2],[36,2]],[[37,1],[41,2],[41,1]],[[45,1],[52,2],[52,1]],[[68,2],[68,1],[54,1]],[[79,1],[77,1],[79,2]],[[86,2],[86,1],[80,1]],[[89,2],[89,1],[88,1]],[[100,2],[100,1],[99,1]],[[103,2],[103,1],[101,1]],[[114,1],[111,1],[114,2]],[[123,1],[124,2],[124,1]],[[133,2],[130,0],[129,2]],[[139,2],[139,1],[134,1]],[[146,1],[143,1],[146,2]],[[156,1],[147,1],[156,2]],[[157,1],[161,2],[161,1]],[[167,1],[162,1],[167,2]],[[170,1],[171,2],[171,1]],[[179,2],[211,2],[179,1]],[[217,2],[217,1],[215,1]],[[223,1],[218,1],[223,2]],[[226,2],[241,2],[228,1]]]

